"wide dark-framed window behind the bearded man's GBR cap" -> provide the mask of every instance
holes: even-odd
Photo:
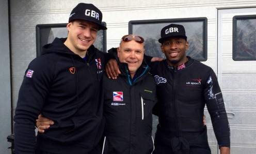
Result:
[[[163,20],[142,20],[129,22],[129,34],[145,38],[146,54],[154,57],[165,55],[161,51],[161,29],[169,24],[183,25],[189,43],[186,54],[198,61],[207,60],[207,18],[175,18]]]

